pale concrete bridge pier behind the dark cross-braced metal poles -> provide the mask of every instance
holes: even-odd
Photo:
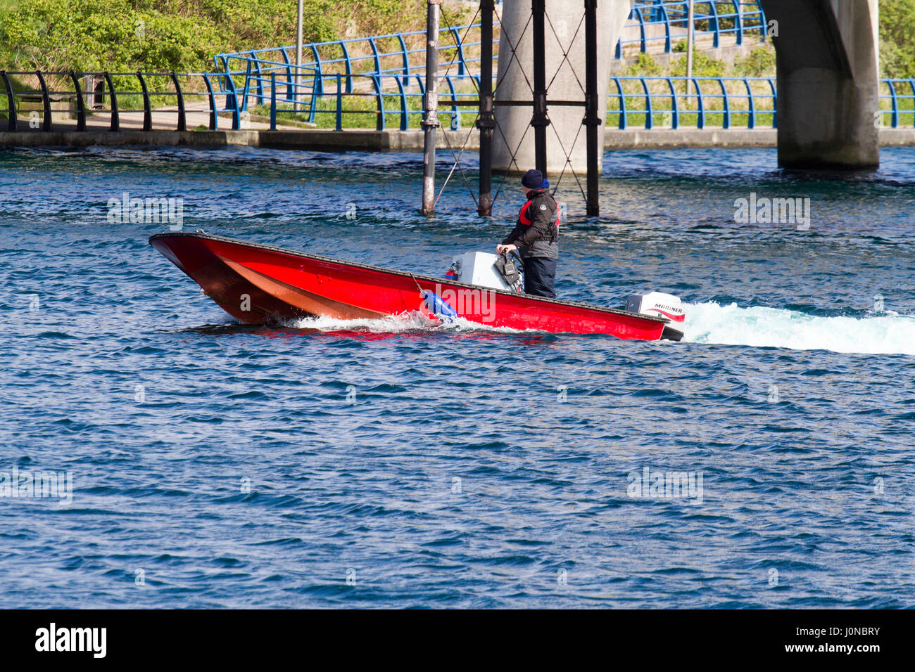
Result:
[[[601,125],[597,146],[604,146],[603,121],[607,116],[607,92],[613,47],[629,18],[631,0],[597,0],[597,91]],[[547,101],[581,101],[581,106],[547,104],[550,126],[546,128],[547,174],[573,180],[572,170],[584,182],[587,170],[585,116],[585,8],[582,0],[546,0]],[[500,101],[533,101],[533,29],[531,0],[504,0],[501,4],[499,69],[495,93],[492,169],[523,173],[535,164],[533,102],[525,106],[500,106]],[[580,25],[580,28],[579,28]],[[526,29],[525,29],[526,28]],[[554,32],[555,31],[555,32]],[[512,58],[511,44],[516,44]],[[563,54],[568,54],[565,59]],[[512,158],[512,154],[514,155]],[[571,164],[566,164],[565,155]],[[601,152],[601,155],[603,153]]]

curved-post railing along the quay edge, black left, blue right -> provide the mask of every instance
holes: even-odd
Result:
[[[285,67],[282,62],[279,65]],[[308,71],[314,79],[315,70]],[[161,100],[160,97],[175,101],[175,109],[165,112],[177,114],[179,131],[188,128],[186,116],[191,112],[209,112],[207,126],[210,130],[219,128],[220,114],[229,114],[231,128],[238,129],[241,127],[244,109],[242,101],[248,98],[253,98],[258,104],[269,105],[271,128],[276,128],[279,114],[296,112],[293,109],[282,110],[280,106],[291,108],[294,103],[301,103],[301,99],[296,101],[290,92],[295,91],[296,86],[307,87],[306,91],[311,96],[311,112],[314,115],[333,115],[333,127],[337,130],[344,128],[343,119],[346,114],[374,114],[376,129],[396,127],[403,131],[415,127],[412,120],[418,121],[422,116],[421,100],[425,81],[418,75],[411,76],[415,86],[413,89],[404,85],[400,74],[350,75],[349,79],[357,80],[357,83],[348,87],[348,76],[338,73],[326,78],[332,82],[328,81],[324,93],[318,95],[314,86],[296,84],[295,78],[290,85],[285,70],[262,70],[256,75],[247,70],[243,73],[233,72],[237,76],[245,76],[244,86],[236,85],[231,77],[222,72],[79,73],[0,70],[0,117],[5,119],[4,123],[0,123],[0,128],[5,126],[7,131],[21,130],[17,126],[17,122],[22,121],[18,119],[18,112],[34,110],[36,105],[40,105],[40,129],[51,130],[50,101],[54,98],[73,102],[77,113],[77,130],[86,130],[87,115],[93,110],[109,113],[111,131],[121,130],[120,120],[125,114],[142,114],[143,128],[152,130],[153,112],[163,112],[153,103],[154,98]],[[295,70],[293,74],[295,75]],[[71,89],[52,89],[48,84],[50,76],[54,76],[58,88],[61,82],[70,81]],[[38,80],[40,89],[17,91],[14,88],[15,77],[34,78]],[[226,80],[222,87],[228,92],[219,90],[221,79]],[[201,80],[203,87],[194,85]],[[331,83],[333,91],[330,91]],[[448,75],[443,78],[443,100],[477,101],[477,88],[473,85],[479,86],[479,80],[470,75]],[[199,91],[202,88],[206,91]],[[348,89],[351,92],[347,92]],[[674,77],[612,77],[608,88],[606,125],[621,130],[775,128],[778,109],[776,94],[776,81],[773,78],[694,77],[687,80]],[[188,98],[199,100],[201,97],[208,103],[205,109],[186,109]],[[349,100],[350,97],[370,100],[371,109],[344,109],[344,99]],[[317,103],[322,98],[332,99],[332,103],[320,109]],[[136,105],[137,101],[142,105]],[[32,107],[20,108],[20,103]],[[124,109],[125,105],[128,109]],[[880,125],[888,128],[915,128],[915,79],[881,80],[879,107],[877,121]],[[451,127],[457,129],[463,125],[464,115],[473,119],[476,112],[472,105],[464,107],[446,102],[440,109],[440,117],[447,124],[450,115]],[[397,120],[396,125],[389,123],[392,115]],[[31,127],[31,124],[26,125]]]

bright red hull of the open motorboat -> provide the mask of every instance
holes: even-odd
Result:
[[[425,311],[429,298],[449,315],[489,327],[619,338],[679,340],[670,320],[613,308],[546,299],[418,273],[212,236],[159,233],[149,244],[203,288],[232,317],[269,324],[323,315],[383,318]],[[441,315],[433,310],[436,315]]]

